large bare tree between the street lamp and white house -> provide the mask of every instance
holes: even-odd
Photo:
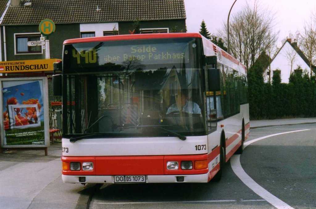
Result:
[[[278,33],[273,33],[274,14],[269,9],[259,8],[257,1],[254,6],[249,4],[232,17],[229,23],[230,52],[243,62],[247,68],[251,67],[260,52],[275,44]],[[227,43],[227,25],[220,32]]]

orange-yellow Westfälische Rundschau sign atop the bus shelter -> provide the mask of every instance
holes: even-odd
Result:
[[[61,59],[33,59],[0,62],[0,73],[53,71],[54,62]]]

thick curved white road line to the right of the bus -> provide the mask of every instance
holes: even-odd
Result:
[[[300,131],[308,131],[310,129],[304,129],[304,130],[298,130],[298,131],[289,131],[289,132],[283,132],[283,133],[276,133],[276,134],[271,134],[268,136],[260,137],[253,139],[251,141],[245,142],[244,143],[244,148],[248,146],[249,144],[252,144],[256,141],[259,141],[264,138],[269,138],[281,134],[286,134],[286,133],[293,133],[293,132],[300,132]],[[265,190],[263,187],[261,187],[259,184],[257,184],[252,178],[250,178],[249,175],[246,174],[244,169],[242,169],[241,164],[240,164],[240,155],[233,155],[230,160],[230,164],[232,166],[232,169],[234,173],[240,178],[240,180],[247,186],[249,187],[253,192],[258,194],[260,197],[262,197],[264,200],[269,202],[271,205],[275,206],[278,209],[294,209],[293,207],[289,206],[282,200],[278,199],[276,196],[273,194],[269,193],[267,190]]]

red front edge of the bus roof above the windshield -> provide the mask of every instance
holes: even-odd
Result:
[[[79,39],[68,39],[64,44],[75,44],[84,42],[97,42],[97,41],[115,41],[115,40],[135,40],[135,39],[164,39],[164,38],[202,38],[201,34],[197,33],[165,33],[165,34],[129,34],[129,35],[112,35],[89,37]]]

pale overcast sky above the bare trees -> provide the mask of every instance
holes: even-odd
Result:
[[[255,0],[237,0],[230,13],[230,20],[234,13],[242,9],[246,2],[253,5]],[[227,22],[228,12],[234,0],[184,0],[186,26],[188,32],[198,33],[204,19],[211,34],[223,28]],[[280,31],[279,40],[283,40],[289,33],[302,31],[304,21],[316,11],[316,0],[257,0],[260,7],[275,13],[275,30]]]

